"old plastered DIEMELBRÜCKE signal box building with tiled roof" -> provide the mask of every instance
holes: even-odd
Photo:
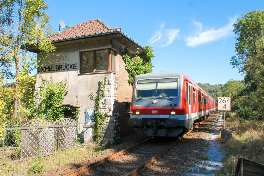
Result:
[[[130,46],[130,52],[143,47],[100,19],[82,22],[49,38],[56,51],[46,57],[37,68],[35,91],[40,91],[41,75],[52,76],[54,83],[67,79],[67,94],[57,106],[79,107],[78,131],[84,133],[84,141],[91,137],[91,128],[85,125],[86,110],[95,107],[91,93],[97,95],[100,81],[107,77],[106,92],[100,101],[100,111],[108,117],[103,125],[104,142],[113,142],[120,132],[129,132],[129,102],[132,87],[128,83],[122,49]],[[39,53],[37,47],[31,52]],[[71,117],[65,112],[64,117]]]

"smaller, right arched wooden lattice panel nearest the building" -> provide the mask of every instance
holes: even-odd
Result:
[[[55,129],[54,139],[57,142],[58,149],[71,149],[76,139],[76,121],[71,118],[62,118],[54,125],[58,125]]]

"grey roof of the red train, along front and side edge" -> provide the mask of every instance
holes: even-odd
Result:
[[[141,74],[141,75],[137,75],[135,77],[135,82],[138,79],[166,78],[166,77],[185,78],[188,82],[195,85],[201,91],[205,92],[199,85],[197,85],[193,80],[191,80],[186,74],[184,74],[182,72],[161,71],[161,72],[152,72],[152,73]],[[205,92],[205,93],[207,96],[209,96],[211,99],[214,100],[214,98],[212,98],[207,92]]]

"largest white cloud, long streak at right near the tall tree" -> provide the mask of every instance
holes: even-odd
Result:
[[[217,41],[217,40],[223,40],[224,37],[231,35],[232,34],[232,30],[233,30],[233,24],[235,22],[236,18],[232,18],[230,19],[230,23],[224,27],[221,27],[219,29],[214,29],[212,28],[211,30],[208,31],[204,31],[201,32],[199,34],[197,34],[196,36],[189,36],[185,39],[185,41],[187,42],[187,46],[197,46],[197,45],[201,45],[201,44],[205,44],[208,42],[212,42],[212,41]],[[200,22],[196,22],[194,21],[194,24],[198,26],[199,30],[201,30],[202,28],[202,24]]]

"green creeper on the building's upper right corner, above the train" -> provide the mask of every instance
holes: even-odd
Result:
[[[136,51],[134,55],[130,55],[129,47],[125,47],[122,51],[122,58],[125,62],[125,69],[129,73],[129,84],[133,85],[136,75],[152,72],[154,65],[151,63],[151,59],[153,57],[153,48],[151,46],[145,46],[142,54]]]

